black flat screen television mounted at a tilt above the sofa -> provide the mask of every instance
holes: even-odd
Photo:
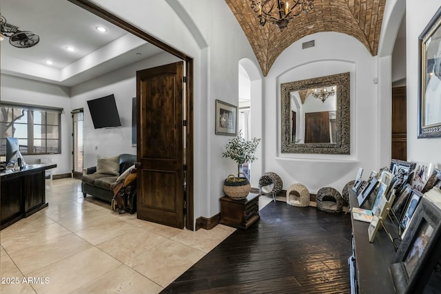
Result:
[[[121,127],[118,109],[113,94],[88,101],[90,116],[95,129]]]

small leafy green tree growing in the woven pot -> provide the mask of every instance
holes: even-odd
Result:
[[[240,165],[243,165],[245,162],[251,163],[257,159],[256,156],[254,156],[254,153],[260,142],[260,138],[253,138],[252,140],[247,141],[241,135],[242,130],[239,131],[236,138],[229,140],[227,145],[225,145],[226,151],[222,153],[222,157],[231,158],[237,162],[238,172]]]

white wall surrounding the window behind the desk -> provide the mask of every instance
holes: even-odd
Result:
[[[61,114],[61,154],[24,156],[27,164],[39,163],[40,158],[52,158],[57,164],[53,174],[72,172],[72,118],[70,116],[70,92],[67,87],[60,87],[26,78],[1,74],[1,101],[19,102],[32,105],[63,108]]]

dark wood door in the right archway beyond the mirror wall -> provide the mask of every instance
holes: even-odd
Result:
[[[406,87],[392,88],[392,158],[407,160]]]

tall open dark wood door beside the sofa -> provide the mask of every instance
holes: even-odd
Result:
[[[183,62],[136,72],[138,218],[184,227]]]

